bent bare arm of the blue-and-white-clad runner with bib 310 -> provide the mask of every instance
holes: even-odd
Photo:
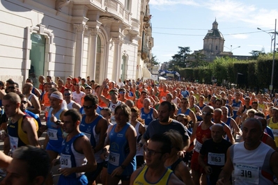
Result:
[[[93,149],[88,138],[85,136],[77,138],[77,140],[75,140],[74,147],[76,151],[84,154],[87,159],[87,163],[86,165],[77,166],[74,168],[61,168],[61,174],[68,176],[73,172],[90,172],[95,170],[97,168],[97,163],[95,162]]]

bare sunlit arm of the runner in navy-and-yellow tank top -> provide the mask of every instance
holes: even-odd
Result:
[[[22,122],[22,130],[26,132],[29,145],[33,145],[35,147],[40,147],[40,143],[38,143],[38,125],[36,125],[34,118],[25,118]]]

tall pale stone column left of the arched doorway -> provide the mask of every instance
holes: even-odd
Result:
[[[84,48],[84,31],[85,24],[73,24],[75,28],[75,71],[74,77],[82,77],[83,67],[83,48]]]

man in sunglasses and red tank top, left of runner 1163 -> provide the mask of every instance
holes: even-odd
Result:
[[[195,185],[200,184],[200,179],[201,182],[206,182],[207,179],[205,170],[199,165],[198,157],[203,142],[211,138],[210,129],[214,124],[211,121],[213,113],[213,106],[205,106],[202,110],[203,121],[196,122],[196,124],[194,124],[194,128],[190,136],[190,140],[192,142],[194,142],[194,139],[196,138],[195,148],[191,159],[192,179]]]

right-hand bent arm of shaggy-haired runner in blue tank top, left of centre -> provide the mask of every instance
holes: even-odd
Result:
[[[125,133],[125,137],[128,140],[128,146],[130,147],[130,153],[128,154],[128,156],[125,158],[125,161],[123,161],[123,163],[119,164],[119,165],[123,165],[123,166],[128,166],[128,164],[132,161],[132,159],[134,158],[135,154],[136,154],[136,131],[134,129],[134,127],[128,127],[128,130]],[[112,173],[111,173],[111,177],[114,177],[115,175],[121,175],[124,171],[124,169],[119,166],[118,168],[116,168]]]

